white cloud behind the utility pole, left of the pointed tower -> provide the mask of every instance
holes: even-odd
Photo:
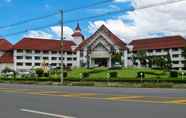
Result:
[[[65,40],[72,40],[72,36],[71,36],[72,33],[73,33],[73,30],[70,27],[64,26]],[[30,31],[30,32],[28,32],[28,34],[26,34],[24,36],[37,37],[37,38],[60,39],[61,27],[60,26],[53,26],[53,27],[50,27],[47,31]]]

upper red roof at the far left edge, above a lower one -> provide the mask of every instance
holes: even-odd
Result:
[[[12,49],[12,44],[8,42],[6,39],[0,39],[0,50],[8,51]]]

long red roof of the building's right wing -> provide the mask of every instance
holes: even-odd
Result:
[[[167,36],[133,40],[130,45],[133,45],[134,51],[140,49],[180,48],[186,46],[186,40],[181,36]]]

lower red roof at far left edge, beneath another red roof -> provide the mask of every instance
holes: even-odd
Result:
[[[13,63],[13,52],[5,52],[1,57],[0,57],[0,63]]]

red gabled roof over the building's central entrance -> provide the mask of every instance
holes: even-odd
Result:
[[[120,49],[127,49],[126,43],[124,43],[120,38],[118,38],[114,33],[112,33],[105,25],[102,25],[93,35],[91,35],[88,39],[84,40],[76,50],[82,49],[86,44],[88,44],[91,39],[98,33],[105,33],[111,41],[118,46]]]

